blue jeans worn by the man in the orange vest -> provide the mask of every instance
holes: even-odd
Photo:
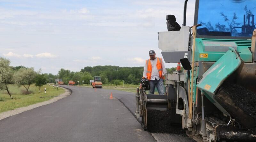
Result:
[[[149,94],[154,94],[155,88],[157,88],[159,95],[164,95],[164,83],[162,78],[160,78],[159,80],[157,79],[150,80],[149,85],[150,85]]]

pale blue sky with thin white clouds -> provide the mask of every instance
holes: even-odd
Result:
[[[166,15],[183,22],[184,0],[0,0],[0,56],[57,74],[61,68],[144,66]],[[195,0],[188,1],[193,25]],[[166,67],[176,64],[166,63]]]

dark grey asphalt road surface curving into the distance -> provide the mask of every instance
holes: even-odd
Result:
[[[0,120],[3,142],[172,142],[192,141],[143,131],[133,116],[135,94],[65,86],[68,97]],[[110,93],[114,99],[109,99]],[[120,101],[119,101],[119,100]],[[132,112],[132,113],[131,113]]]

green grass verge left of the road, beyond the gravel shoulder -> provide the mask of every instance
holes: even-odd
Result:
[[[31,94],[23,94],[26,92],[24,86],[18,87],[17,85],[8,85],[8,88],[13,99],[10,98],[7,91],[0,91],[0,113],[47,101],[65,92],[62,88],[57,90],[56,86],[53,88],[49,85],[42,86],[41,93],[39,93],[39,87],[36,87],[34,84],[30,85],[28,91],[32,92]],[[46,88],[46,93],[44,93],[44,88]]]

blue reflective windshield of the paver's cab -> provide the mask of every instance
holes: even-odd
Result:
[[[251,37],[256,0],[200,0],[197,34]]]

